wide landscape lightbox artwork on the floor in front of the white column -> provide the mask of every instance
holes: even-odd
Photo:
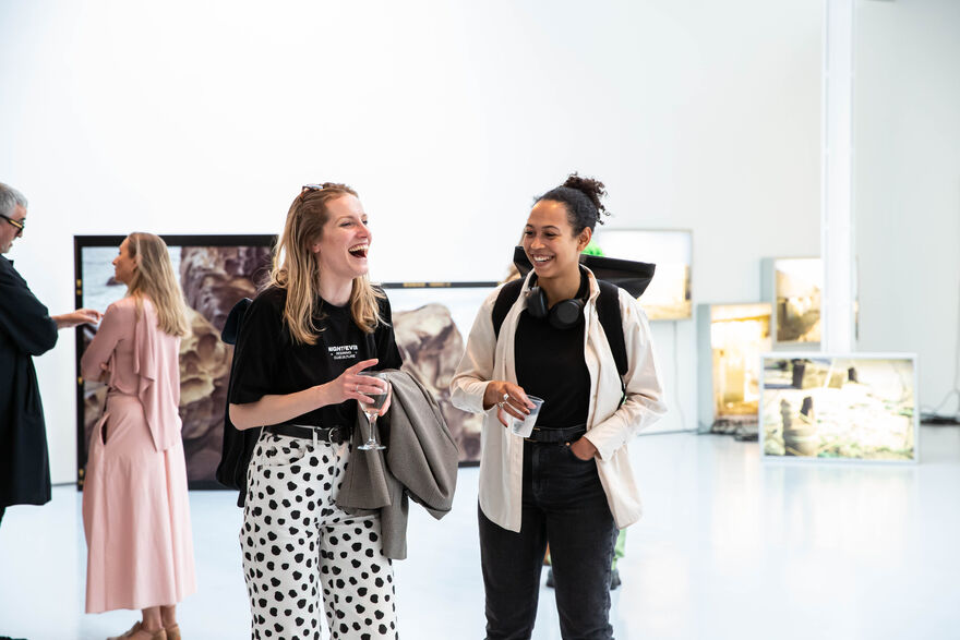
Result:
[[[917,460],[912,354],[776,352],[763,366],[765,457]]]

